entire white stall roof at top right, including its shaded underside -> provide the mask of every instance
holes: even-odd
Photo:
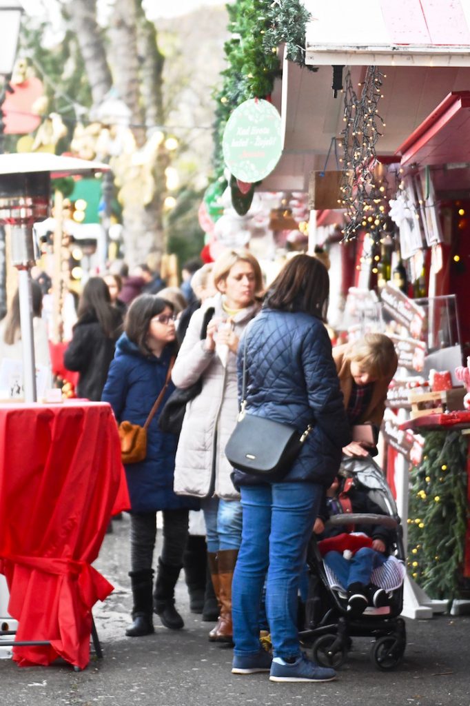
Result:
[[[344,128],[344,102],[332,91],[332,65],[351,71],[361,85],[368,66],[384,78],[379,112],[385,126],[376,145],[383,159],[417,130],[450,92],[470,86],[470,0],[303,0],[311,12],[306,32],[306,64],[284,58],[282,91],[273,102],[282,114],[284,150],[263,187],[308,188],[313,169],[326,163],[332,138]],[[281,82],[279,81],[279,85]],[[360,88],[357,89],[360,92]]]

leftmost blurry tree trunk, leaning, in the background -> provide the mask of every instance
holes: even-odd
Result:
[[[112,76],[104,51],[102,30],[96,20],[97,0],[73,0],[67,5],[69,23],[76,34],[90,82],[93,107],[102,102],[112,87]]]

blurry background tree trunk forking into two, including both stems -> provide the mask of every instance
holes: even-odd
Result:
[[[103,43],[96,23],[96,2],[73,0],[68,6],[73,28],[79,37],[88,79],[92,87],[95,86],[93,102],[96,105],[102,101],[114,85],[121,100],[131,110],[135,144],[138,150],[145,147],[145,164],[141,174],[132,160],[130,164],[122,164],[121,169],[118,164],[114,167],[116,181],[121,187],[126,261],[132,267],[145,261],[148,253],[162,253],[163,250],[162,210],[167,155],[162,148],[149,145],[147,137],[151,136],[152,127],[161,125],[163,121],[164,58],[157,46],[157,32],[145,18],[141,0],[114,0],[107,28],[109,44]],[[109,66],[112,67],[112,78]],[[103,76],[106,80],[98,80]],[[150,191],[143,188],[143,179],[147,179]]]

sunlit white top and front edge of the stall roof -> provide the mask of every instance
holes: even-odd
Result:
[[[306,64],[470,66],[470,0],[303,0]]]

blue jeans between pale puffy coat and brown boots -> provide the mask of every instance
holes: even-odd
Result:
[[[239,500],[206,498],[200,503],[204,513],[207,551],[239,549],[241,544],[241,503]]]

